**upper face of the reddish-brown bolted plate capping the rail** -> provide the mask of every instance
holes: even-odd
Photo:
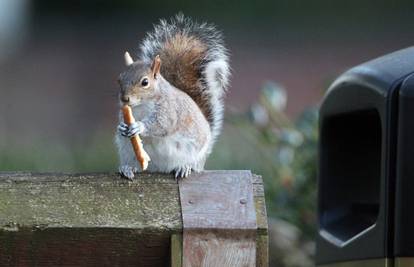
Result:
[[[185,230],[257,229],[249,171],[194,174],[179,191]]]

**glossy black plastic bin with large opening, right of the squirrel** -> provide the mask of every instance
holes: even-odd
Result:
[[[414,255],[413,72],[414,47],[352,68],[323,100],[318,265]]]

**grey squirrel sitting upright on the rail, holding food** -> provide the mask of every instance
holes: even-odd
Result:
[[[161,19],[147,33],[134,61],[119,76],[120,104],[136,123],[119,115],[115,143],[119,172],[133,179],[141,171],[129,138],[139,134],[151,158],[150,172],[184,178],[200,172],[220,134],[230,67],[223,36],[209,23],[178,14]]]

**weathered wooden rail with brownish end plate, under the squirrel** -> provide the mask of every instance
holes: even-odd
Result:
[[[249,171],[0,172],[0,266],[267,266],[263,184]]]

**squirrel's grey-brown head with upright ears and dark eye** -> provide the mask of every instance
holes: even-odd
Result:
[[[142,100],[156,96],[157,82],[160,77],[161,59],[156,56],[148,66],[140,61],[133,61],[125,52],[127,69],[119,75],[120,101],[130,106],[138,105]]]

